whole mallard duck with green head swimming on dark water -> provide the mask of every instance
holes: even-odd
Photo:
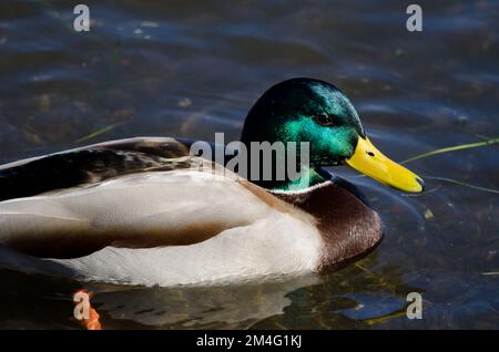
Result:
[[[345,164],[422,191],[422,179],[384,156],[347,96],[324,81],[272,86],[247,114],[241,141],[308,142],[307,169],[299,179],[247,180],[224,168],[225,159],[192,155],[193,141],[170,137],[0,166],[0,262],[144,286],[318,272],[365,255],[383,237],[377,213],[324,167]]]

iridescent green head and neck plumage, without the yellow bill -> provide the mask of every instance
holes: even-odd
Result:
[[[312,79],[281,82],[255,103],[243,128],[242,142],[309,143],[309,170],[302,179],[252,182],[266,188],[304,188],[323,180],[319,168],[338,165],[354,154],[358,136],[365,136],[355,107],[336,86]],[[274,165],[275,158],[274,158]],[[261,167],[262,169],[262,167]],[[303,179],[306,177],[307,179]]]

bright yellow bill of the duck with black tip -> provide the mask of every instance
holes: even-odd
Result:
[[[424,189],[425,183],[418,175],[387,158],[367,137],[358,138],[354,155],[345,163],[394,188],[409,193],[421,193]]]

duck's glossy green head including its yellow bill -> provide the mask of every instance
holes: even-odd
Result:
[[[422,191],[422,179],[384,156],[348,97],[324,81],[292,79],[272,86],[249,111],[241,139],[246,146],[308,142],[312,172],[346,164],[397,189]]]

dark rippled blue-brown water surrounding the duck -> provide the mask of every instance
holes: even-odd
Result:
[[[0,164],[138,135],[237,139],[258,95],[292,76],[339,86],[394,159],[499,135],[498,1],[419,2],[421,33],[404,1],[85,3],[89,33],[72,30],[71,1],[0,2]],[[386,227],[361,261],[225,288],[92,286],[103,328],[498,329],[499,196],[430,178],[498,189],[497,145],[408,166],[425,194],[352,178]],[[79,329],[78,283],[0,281],[1,328]],[[405,317],[411,291],[421,320]]]

